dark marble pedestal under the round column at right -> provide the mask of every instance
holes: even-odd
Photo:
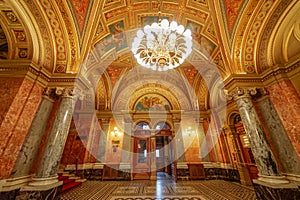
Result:
[[[296,183],[271,184],[260,180],[253,180],[253,186],[257,199],[300,199],[300,185]]]

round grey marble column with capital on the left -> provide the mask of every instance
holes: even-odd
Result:
[[[57,88],[55,92],[57,95],[61,95],[62,101],[52,125],[36,177],[29,184],[31,186],[50,185],[58,181],[56,173],[68,136],[74,102],[72,90]]]

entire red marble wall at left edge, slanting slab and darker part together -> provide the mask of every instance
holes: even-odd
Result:
[[[0,179],[9,178],[42,98],[43,88],[27,79],[1,79]],[[3,111],[3,112],[2,112]]]

